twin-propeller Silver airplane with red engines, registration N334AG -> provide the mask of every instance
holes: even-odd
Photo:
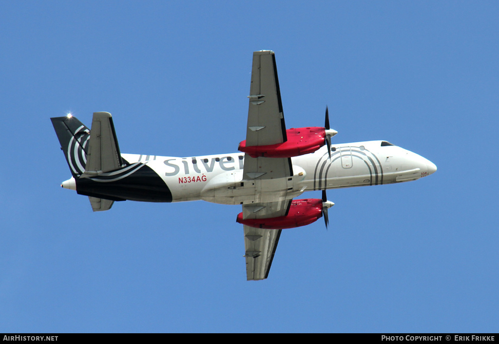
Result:
[[[282,229],[324,217],[326,189],[383,185],[428,176],[430,160],[388,141],[331,144],[329,127],[286,129],[275,54],[253,52],[246,140],[239,152],[190,157],[122,154],[109,112],[89,130],[68,114],[51,118],[72,177],[63,188],[89,197],[93,211],[115,201],[206,200],[241,204],[247,280],[268,276]],[[322,190],[322,198],[293,199]]]

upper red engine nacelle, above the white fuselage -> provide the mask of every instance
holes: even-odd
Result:
[[[282,143],[246,146],[246,140],[239,143],[239,150],[251,157],[292,157],[313,153],[325,144],[326,131],[323,127],[291,128],[286,130],[287,140]]]

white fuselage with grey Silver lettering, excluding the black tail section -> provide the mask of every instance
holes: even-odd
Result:
[[[275,199],[276,194],[291,199],[310,190],[416,180],[437,169],[428,159],[386,141],[342,143],[331,147],[331,157],[326,146],[310,154],[292,157],[293,176],[285,178],[285,189],[268,189],[269,199]],[[266,200],[265,181],[258,182],[257,178],[243,175],[245,154],[242,152],[194,157],[122,156],[131,163],[146,163],[160,175],[172,192],[172,201],[203,199],[241,204]]]

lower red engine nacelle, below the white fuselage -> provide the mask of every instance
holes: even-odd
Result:
[[[243,219],[243,213],[240,212],[236,221],[255,228],[283,229],[310,224],[320,217],[322,217],[322,199],[307,198],[291,201],[285,216]]]

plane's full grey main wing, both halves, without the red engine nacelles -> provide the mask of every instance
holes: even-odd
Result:
[[[273,51],[253,52],[246,145],[268,145],[286,141],[286,125]],[[253,203],[243,204],[243,218],[284,216],[291,203],[291,158],[256,157],[245,154],[243,179],[255,185]],[[289,185],[288,185],[289,183]],[[246,275],[248,280],[265,279],[279,242],[281,229],[244,225]]]

